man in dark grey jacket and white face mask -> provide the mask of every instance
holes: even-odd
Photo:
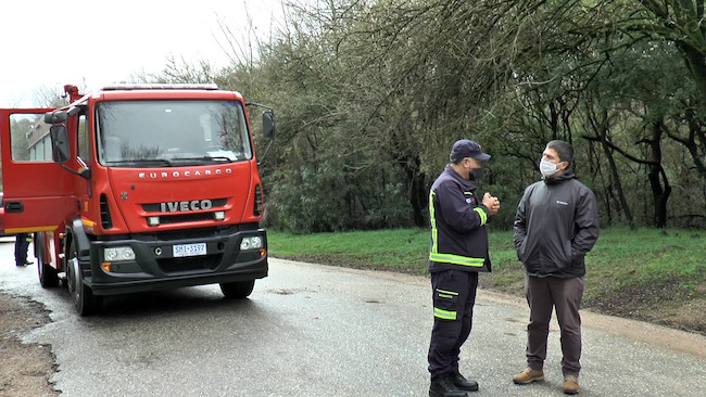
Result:
[[[595,195],[571,169],[573,149],[551,141],[542,153],[542,180],[525,190],[517,206],[514,238],[527,271],[525,292],[530,308],[527,369],[516,384],[544,380],[546,338],[552,310],[562,330],[564,393],[578,394],[581,364],[581,317],[585,254],[598,239]]]

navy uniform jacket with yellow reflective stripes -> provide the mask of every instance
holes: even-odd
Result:
[[[446,165],[429,191],[429,271],[490,271],[489,218],[490,210],[474,183]]]

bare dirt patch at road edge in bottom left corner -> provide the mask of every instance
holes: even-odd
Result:
[[[50,321],[40,304],[0,294],[0,396],[59,396],[49,382],[56,369],[51,346],[20,340]]]

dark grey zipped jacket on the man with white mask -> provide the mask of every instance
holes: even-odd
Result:
[[[598,240],[595,195],[564,175],[525,189],[514,223],[517,257],[529,276],[570,279],[585,274],[585,254]]]

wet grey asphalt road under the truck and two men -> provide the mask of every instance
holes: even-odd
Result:
[[[51,344],[63,397],[428,395],[425,278],[270,259],[247,300],[209,285],[109,298],[101,316],[79,318],[65,289],[42,290],[36,265],[15,268],[12,253],[0,243],[0,289],[51,310],[23,340]],[[527,317],[519,299],[480,292],[462,351],[462,372],[480,384],[469,395],[564,396],[556,324],[546,382],[512,382]],[[706,395],[703,336],[587,312],[583,342],[581,396]]]

